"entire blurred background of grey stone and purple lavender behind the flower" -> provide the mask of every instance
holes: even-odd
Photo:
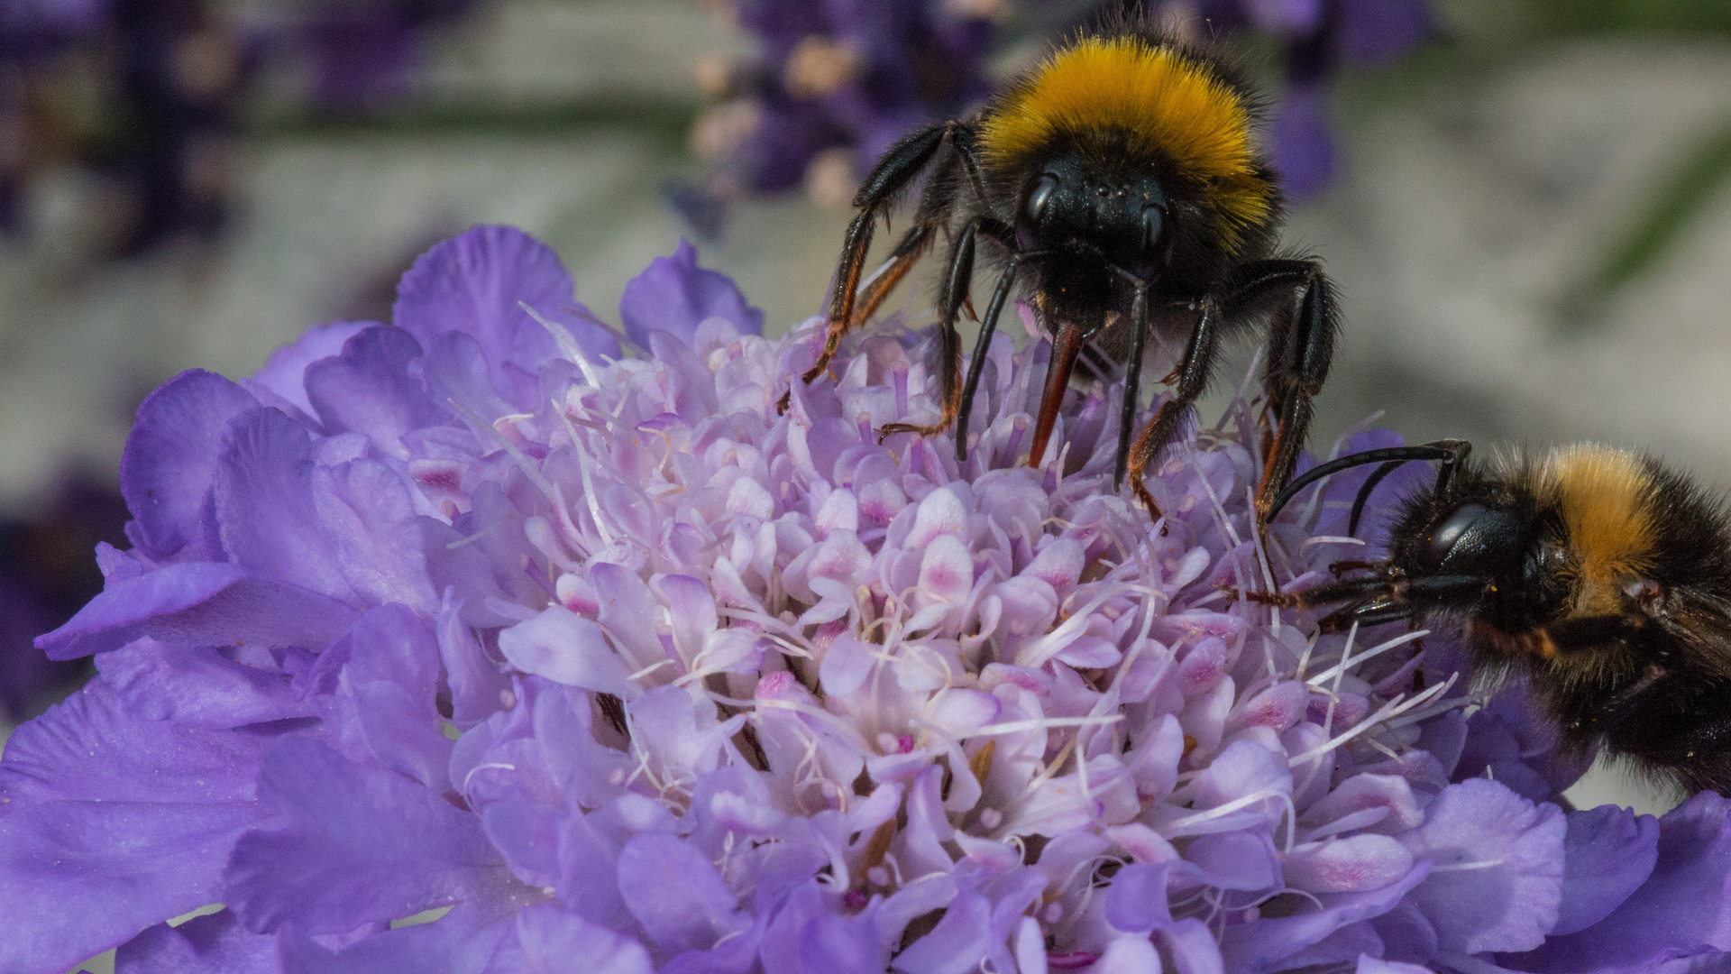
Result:
[[[1731,485],[1731,3],[1132,5],[1224,38],[1272,95],[1286,239],[1345,291],[1314,445],[1387,411],[1411,438],[1599,438]],[[1101,9],[0,0],[0,733],[87,672],[29,638],[100,589],[97,541],[125,544],[116,466],[163,380],[388,319],[414,256],[478,222],[552,244],[602,317],[691,237],[786,329],[822,303],[862,166]]]

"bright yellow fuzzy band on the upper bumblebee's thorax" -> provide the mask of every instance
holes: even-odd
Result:
[[[980,147],[987,165],[1014,166],[1054,139],[1103,130],[1212,187],[1229,250],[1274,208],[1243,99],[1205,64],[1134,36],[1089,36],[1049,57],[987,114]]]

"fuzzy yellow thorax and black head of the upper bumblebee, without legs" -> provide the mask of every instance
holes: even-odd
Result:
[[[1146,33],[1085,36],[987,107],[980,149],[1020,191],[1025,243],[1132,248],[1158,270],[1174,250],[1241,256],[1272,229],[1257,113],[1210,57]]]

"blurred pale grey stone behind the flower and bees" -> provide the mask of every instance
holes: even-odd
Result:
[[[694,101],[691,62],[743,47],[685,0],[502,0],[441,40],[429,83],[464,104]],[[1587,324],[1558,314],[1655,173],[1731,123],[1731,40],[1553,43],[1407,73],[1392,95],[1361,80],[1340,114],[1342,179],[1288,231],[1345,291],[1316,445],[1381,409],[1411,438],[1596,438],[1731,485],[1731,184]],[[130,409],[177,371],[246,374],[312,322],[384,314],[415,253],[476,222],[545,239],[578,298],[616,317],[625,282],[682,232],[663,182],[694,173],[677,135],[623,121],[277,132],[242,153],[241,220],[215,251],[119,265],[88,260],[92,187],[54,177],[31,201],[33,239],[0,244],[0,506],[69,464],[111,471]],[[822,302],[845,222],[796,198],[753,205],[701,260],[786,328]],[[1662,802],[1631,789],[1596,775],[1575,797]]]

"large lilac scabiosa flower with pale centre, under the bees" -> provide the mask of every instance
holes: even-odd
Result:
[[[0,761],[0,969],[1724,964],[1724,799],[1565,813],[1447,634],[1234,598],[1362,555],[1364,471],[1262,546],[1239,406],[1156,525],[1110,490],[1118,388],[1023,463],[1037,336],[987,352],[959,463],[874,433],[935,412],[928,331],[777,416],[819,321],[758,336],[687,248],[621,314],[481,227],[395,326],[140,406],[132,549],[40,640],[99,676]]]

